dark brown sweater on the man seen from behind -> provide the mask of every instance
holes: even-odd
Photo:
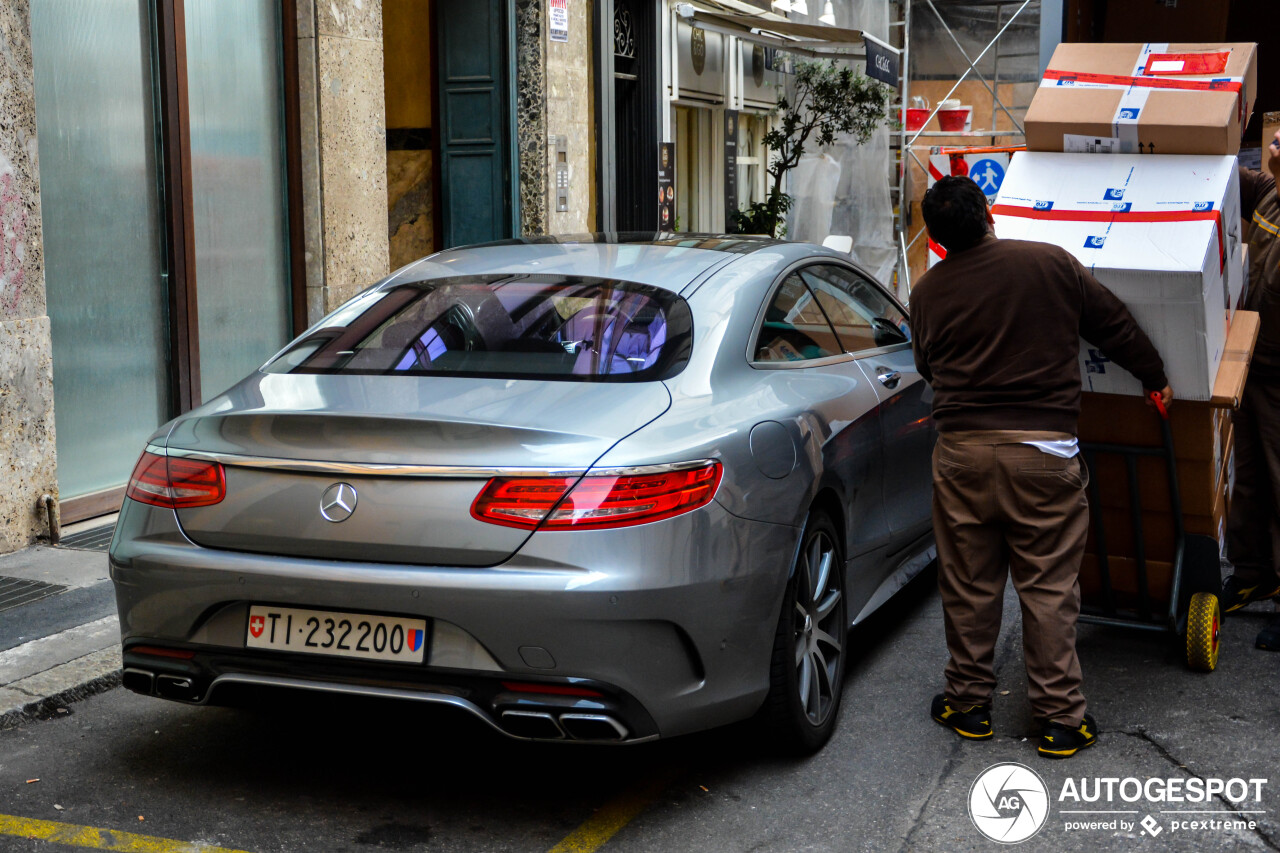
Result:
[[[942,432],[1075,434],[1080,338],[1148,389],[1165,364],[1124,304],[1064,248],[988,234],[911,289],[915,364]]]

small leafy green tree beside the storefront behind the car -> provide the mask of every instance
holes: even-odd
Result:
[[[782,179],[800,163],[809,146],[826,147],[837,136],[867,142],[884,120],[890,88],[851,68],[829,61],[800,61],[795,67],[791,95],[778,92],[777,124],[764,134],[773,152],[768,173],[773,179],[764,201],[735,210],[730,231],[740,234],[781,237],[792,199],[782,191]]]

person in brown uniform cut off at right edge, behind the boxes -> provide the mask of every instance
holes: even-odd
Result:
[[[1280,134],[1277,134],[1280,138]],[[1235,428],[1235,487],[1226,556],[1235,566],[1222,584],[1222,607],[1239,610],[1280,593],[1280,145],[1271,145],[1272,174],[1240,168],[1240,215],[1248,220],[1249,289],[1258,311],[1258,342],[1249,364]],[[1280,616],[1258,634],[1258,648],[1280,649]]]

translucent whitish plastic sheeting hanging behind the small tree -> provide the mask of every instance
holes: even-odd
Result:
[[[808,19],[792,13],[792,20],[820,23],[822,0],[810,0]],[[833,0],[837,27],[863,29],[888,42],[890,9],[887,0]],[[863,70],[863,63],[854,63]],[[829,177],[836,181],[829,181]],[[806,152],[788,175],[794,205],[787,216],[787,237],[820,243],[831,234],[854,241],[854,260],[890,284],[897,264],[893,232],[893,202],[890,182],[888,129],[876,131],[865,145],[851,140]]]

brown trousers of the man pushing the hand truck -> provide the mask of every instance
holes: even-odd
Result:
[[[1023,610],[1028,698],[1041,721],[1080,725],[1080,558],[1089,528],[1088,474],[1027,439],[1070,438],[1014,430],[941,433],[933,450],[933,532],[946,622],[946,695],[987,704],[1005,584]]]

